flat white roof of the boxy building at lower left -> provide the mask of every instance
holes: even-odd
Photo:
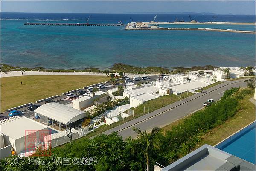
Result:
[[[19,139],[25,136],[25,130],[42,130],[48,126],[23,116],[1,124],[0,128],[4,135],[12,139]]]

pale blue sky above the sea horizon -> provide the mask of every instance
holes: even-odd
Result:
[[[1,0],[1,12],[126,13],[212,12],[254,14],[255,0],[248,1],[30,1]]]

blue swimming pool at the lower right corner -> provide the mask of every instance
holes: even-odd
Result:
[[[255,164],[255,122],[215,146]]]

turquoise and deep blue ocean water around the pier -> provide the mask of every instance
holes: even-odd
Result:
[[[104,26],[23,25],[25,22],[85,22],[84,16],[68,18],[69,14],[65,14],[65,16],[55,16],[54,18],[50,14],[41,15],[27,14],[27,16],[18,15],[12,18],[12,15],[5,14],[3,16],[1,13],[1,63],[20,67],[41,66],[74,69],[85,67],[106,69],[116,62],[140,67],[168,68],[194,65],[230,67],[255,65],[255,34],[124,30],[122,27]],[[92,21],[89,23],[117,23],[122,18],[124,18],[123,23],[150,21],[151,15],[111,14],[111,17],[102,20],[108,15],[98,14],[93,17],[92,14]],[[175,18],[175,16],[172,17]],[[248,19],[245,16],[239,21],[230,18],[227,17],[227,20],[220,21],[255,22],[255,16],[254,19]],[[162,21],[165,21],[164,17]],[[209,20],[205,19],[205,21]],[[192,26],[189,27],[192,28]],[[202,28],[203,26],[198,27]],[[207,28],[215,27],[207,25]],[[255,31],[255,25],[222,25],[221,28]]]

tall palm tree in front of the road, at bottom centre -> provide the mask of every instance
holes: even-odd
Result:
[[[140,128],[133,127],[132,130],[138,134],[137,138],[142,140],[142,143],[134,144],[134,146],[131,147],[131,152],[134,153],[138,150],[138,148],[143,148],[143,155],[146,158],[147,170],[149,171],[149,156],[151,154],[151,151],[153,151],[154,149],[159,149],[159,139],[157,139],[157,135],[162,130],[160,127],[154,127],[151,130],[151,134],[148,134],[146,130],[144,130],[144,132],[141,132]],[[142,146],[140,147],[140,145]]]

